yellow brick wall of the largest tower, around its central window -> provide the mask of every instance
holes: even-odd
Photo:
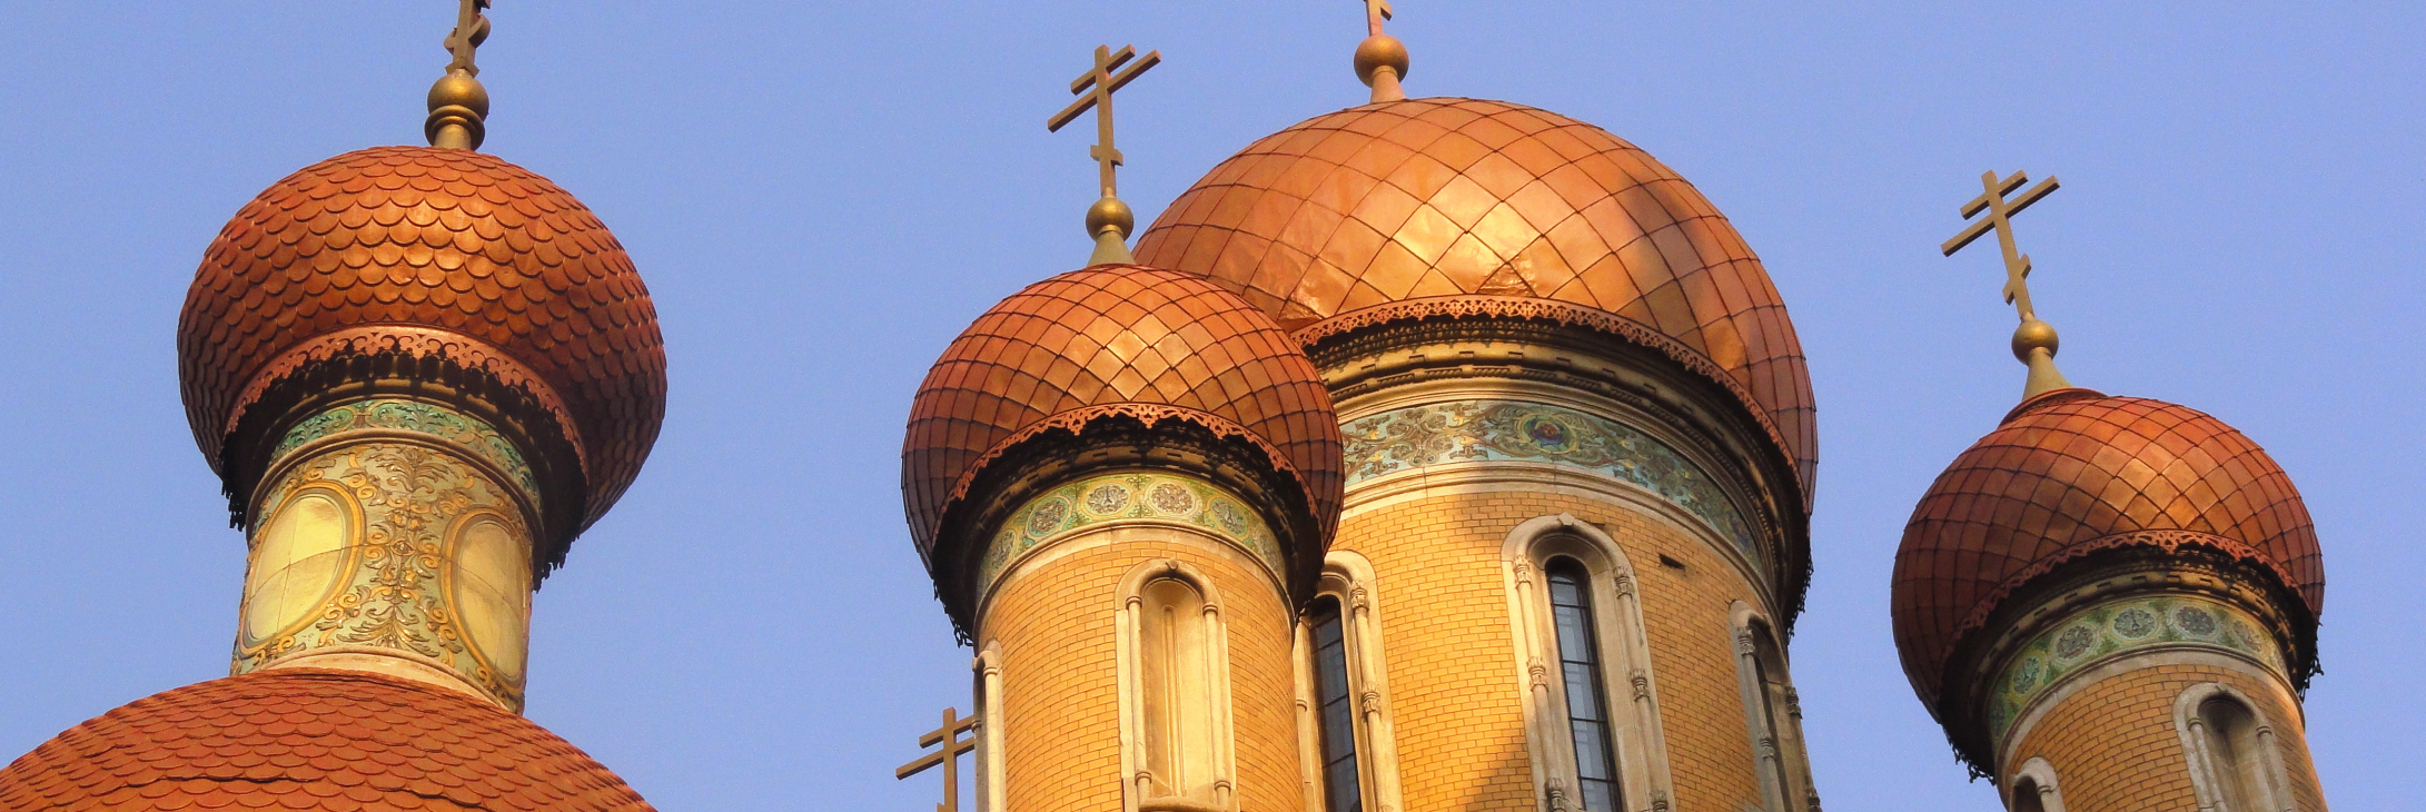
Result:
[[[1727,606],[1759,599],[1737,570],[1701,541],[1611,502],[1475,492],[1359,511],[1332,543],[1371,560],[1380,584],[1407,810],[1533,810],[1499,548],[1519,524],[1555,514],[1601,526],[1638,574],[1672,810],[1756,807]],[[1662,567],[1662,553],[1686,567]]]

